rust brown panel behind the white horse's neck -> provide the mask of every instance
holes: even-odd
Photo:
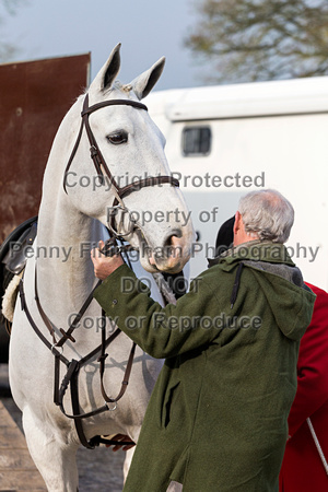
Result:
[[[89,71],[90,54],[0,66],[0,243],[37,214],[54,137]]]

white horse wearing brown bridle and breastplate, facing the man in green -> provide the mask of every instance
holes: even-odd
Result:
[[[54,492],[78,489],[75,453],[80,440],[73,419],[54,403],[54,354],[62,350],[66,360],[79,361],[99,344],[102,313],[95,301],[72,333],[75,341],[62,335],[95,285],[90,259],[92,246],[105,238],[104,226],[109,226],[144,253],[140,261],[145,270],[176,272],[189,259],[194,239],[190,221],[183,219],[188,216],[184,199],[169,177],[163,136],[145,106],[139,103],[156,83],[164,59],[122,85],[116,81],[119,48],[120,45],[112,51],[87,93],[78,98],[63,118],[45,172],[37,237],[27,251],[23,288],[25,306],[48,347],[32,328],[20,302],[12,326],[9,361],[12,395],[23,412],[30,453],[48,490]],[[171,248],[172,244],[178,249]],[[54,338],[47,321],[54,328]],[[109,330],[113,327],[107,320],[107,335]],[[59,340],[65,341],[62,348],[60,343],[57,345]],[[110,397],[119,393],[130,349],[131,341],[124,333],[107,348],[104,386]],[[98,355],[79,373],[80,413],[104,407]],[[67,367],[62,362],[59,366],[60,383]],[[137,348],[129,386],[117,407],[107,403],[112,411],[81,420],[86,440],[122,433],[137,442],[161,366],[161,361]],[[63,403],[71,414],[69,395]]]

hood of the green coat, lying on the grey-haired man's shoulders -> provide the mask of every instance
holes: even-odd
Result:
[[[301,270],[283,244],[260,241],[244,243],[209,260],[209,266],[213,265],[224,271],[236,269],[232,306],[243,282],[242,272],[250,268],[256,280],[255,288],[263,292],[280,330],[292,340],[301,340],[311,323],[316,296],[305,285]]]

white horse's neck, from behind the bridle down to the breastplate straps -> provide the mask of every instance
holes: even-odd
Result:
[[[65,168],[80,125],[78,101],[55,138],[44,176],[35,246],[40,300],[47,305],[79,309],[95,283],[90,249],[102,237],[102,225],[79,212],[63,191]]]

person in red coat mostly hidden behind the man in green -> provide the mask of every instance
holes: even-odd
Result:
[[[221,225],[218,253],[233,243],[234,221],[233,216]],[[316,285],[306,285],[316,294],[316,301],[300,344],[297,391],[289,414],[280,492],[328,490],[328,294]]]

